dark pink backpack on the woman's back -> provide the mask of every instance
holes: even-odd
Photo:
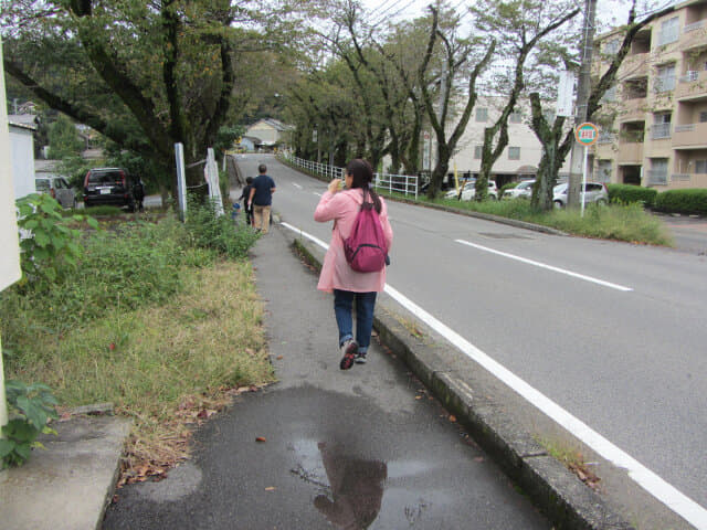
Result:
[[[344,240],[344,254],[351,268],[359,273],[376,273],[389,263],[383,227],[373,203],[366,202],[366,190],[351,234]]]

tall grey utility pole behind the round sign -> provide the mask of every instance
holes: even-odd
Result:
[[[574,110],[574,127],[587,121],[587,105],[591,92],[592,51],[594,47],[594,18],[597,13],[597,0],[584,1],[584,26],[580,44],[580,71],[577,84],[577,107]],[[582,163],[584,147],[577,140],[572,141],[572,156],[570,161],[570,180],[567,190],[567,205],[579,206],[580,188],[582,184]]]

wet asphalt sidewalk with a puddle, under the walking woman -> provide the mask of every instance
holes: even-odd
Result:
[[[167,479],[120,489],[104,529],[550,529],[400,359],[374,342],[339,369],[331,296],[291,243],[274,227],[252,261],[278,382]]]

